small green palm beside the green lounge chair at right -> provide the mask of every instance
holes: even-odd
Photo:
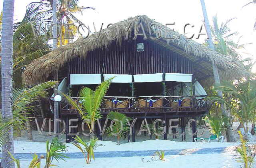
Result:
[[[225,130],[227,125],[225,123],[228,122],[228,118],[221,118],[216,116],[212,116],[212,117],[206,116],[203,118],[203,120],[210,125],[209,130],[211,134],[216,135],[217,138],[219,138],[220,133]]]

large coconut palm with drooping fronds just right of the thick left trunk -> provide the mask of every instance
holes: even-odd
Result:
[[[44,38],[44,31],[41,31],[38,38],[34,39],[34,28],[39,28],[40,17],[38,13],[44,9],[40,4],[27,6],[26,14],[21,22],[14,24],[13,28],[13,81],[14,88],[23,87],[22,73],[26,65],[36,58],[50,52],[51,46],[47,43],[48,38]],[[2,15],[1,15],[2,16]],[[0,23],[2,17],[0,16]],[[0,24],[0,33],[2,32]]]

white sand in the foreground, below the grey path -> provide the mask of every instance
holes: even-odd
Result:
[[[61,168],[238,168],[233,156],[224,154],[193,154],[193,155],[174,155],[165,156],[166,161],[152,161],[151,156],[147,157],[122,157],[122,158],[96,158],[95,161],[86,165],[83,159],[68,159],[67,162],[54,160],[53,164],[57,164]],[[144,162],[142,162],[142,159]],[[150,162],[145,162],[149,160]],[[21,160],[21,167],[26,168],[30,160]],[[42,166],[45,160],[42,160]]]

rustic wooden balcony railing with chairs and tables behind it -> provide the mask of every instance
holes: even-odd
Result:
[[[211,102],[200,96],[105,96],[100,111],[108,113],[118,111],[122,113],[140,112],[207,112]],[[72,97],[81,104],[79,97]],[[77,114],[76,109],[66,102],[60,104],[61,114]]]

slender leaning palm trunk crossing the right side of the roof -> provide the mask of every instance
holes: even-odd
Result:
[[[203,11],[203,14],[204,14],[204,22],[205,22],[205,25],[206,25],[206,32],[209,36],[209,39],[208,39],[209,48],[211,50],[215,50],[213,42],[212,42],[212,34],[211,34],[211,31],[210,31],[210,24],[209,24],[209,21],[208,21],[208,16],[207,16],[204,0],[200,0],[200,1],[201,1],[201,5],[202,5],[202,11]],[[219,76],[218,68],[217,68],[217,66],[215,65],[214,62],[212,62],[212,71],[213,71],[213,75],[214,75],[215,85],[220,86],[220,76]],[[217,93],[218,93],[218,96],[220,96],[222,98],[222,91],[217,90]],[[222,117],[223,118],[227,117],[228,115],[227,115],[225,106],[222,103],[220,104],[220,108],[221,108]],[[234,138],[232,137],[232,130],[230,128],[229,123],[226,126],[226,138],[227,138],[227,142],[235,142]]]

